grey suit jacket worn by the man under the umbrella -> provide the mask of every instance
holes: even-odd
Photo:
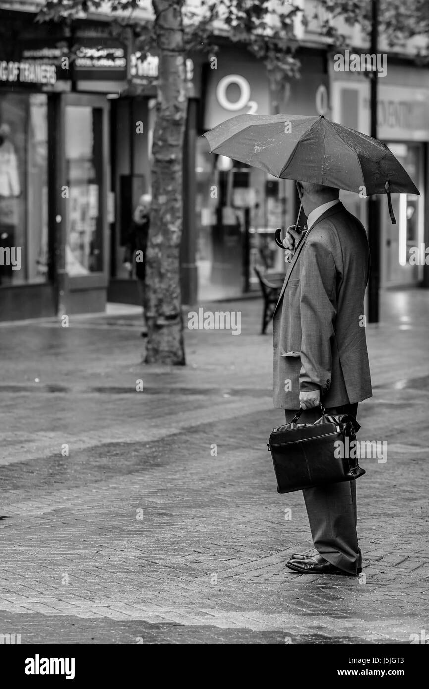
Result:
[[[342,203],[308,229],[286,273],[273,316],[274,406],[298,409],[320,389],[325,407],[372,395],[364,327],[369,247]]]

